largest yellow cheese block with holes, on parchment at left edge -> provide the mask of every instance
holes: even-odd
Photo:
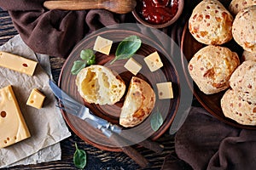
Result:
[[[0,148],[30,137],[10,85],[0,89],[0,132]]]

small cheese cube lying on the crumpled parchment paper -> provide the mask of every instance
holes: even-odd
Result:
[[[26,105],[41,109],[44,104],[44,99],[44,94],[42,94],[37,88],[34,88],[26,101]]]

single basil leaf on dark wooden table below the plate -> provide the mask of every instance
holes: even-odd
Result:
[[[76,151],[73,154],[73,163],[79,169],[83,169],[86,166],[86,153],[84,150],[79,150],[77,143],[75,143]]]

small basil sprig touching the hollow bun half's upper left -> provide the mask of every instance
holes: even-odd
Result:
[[[85,66],[96,64],[96,56],[92,49],[83,49],[80,53],[80,58],[83,60],[76,60],[73,62],[71,73],[77,75]]]

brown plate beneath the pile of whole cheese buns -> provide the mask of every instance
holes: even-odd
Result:
[[[230,48],[232,51],[236,52],[239,56],[241,56],[242,48],[234,42],[234,40],[224,44],[225,47]],[[183,59],[187,59],[187,61],[183,62],[183,71],[185,72],[185,75],[187,78],[189,78],[189,71],[187,68],[187,62],[194,56],[194,54],[201,48],[205,47],[204,44],[201,42],[197,42],[194,37],[189,32],[188,23],[186,26],[184,26],[183,29],[183,37],[182,37],[182,43],[181,48],[183,51],[184,57]],[[228,123],[229,125],[233,127],[241,127],[241,128],[247,128],[247,129],[256,129],[255,126],[245,126],[241,125],[230,118],[227,118],[224,116],[224,113],[220,106],[220,99],[222,98],[224,92],[218,93],[218,94],[204,94],[201,92],[201,90],[196,86],[195,82],[189,82],[189,87],[193,90],[193,94],[195,95],[195,98],[198,99],[198,101],[201,103],[201,105],[209,111],[212,116],[215,116],[218,118],[218,120]]]

